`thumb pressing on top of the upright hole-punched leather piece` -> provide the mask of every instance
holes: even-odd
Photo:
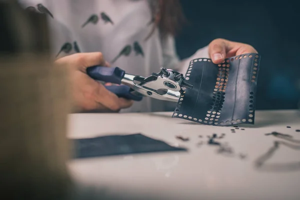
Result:
[[[225,41],[223,39],[214,39],[209,43],[208,53],[212,62],[219,64],[224,61],[226,56]]]

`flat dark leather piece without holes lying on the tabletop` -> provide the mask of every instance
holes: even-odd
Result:
[[[75,158],[100,157],[161,151],[186,151],[186,148],[147,137],[140,133],[73,139]]]

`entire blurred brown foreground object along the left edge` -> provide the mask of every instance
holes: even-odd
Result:
[[[48,56],[44,15],[0,1],[0,193],[2,199],[64,199],[68,100],[65,67]]]

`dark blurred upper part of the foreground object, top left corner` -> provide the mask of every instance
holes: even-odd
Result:
[[[0,53],[47,53],[50,48],[46,16],[23,10],[16,0],[0,0]]]

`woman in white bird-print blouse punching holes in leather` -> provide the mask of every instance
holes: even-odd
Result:
[[[174,35],[182,22],[179,0],[20,0],[29,10],[48,15],[56,63],[72,69],[74,100],[83,111],[117,111],[132,101],[118,98],[86,75],[86,67],[119,66],[148,76],[160,66],[185,73],[185,62],[256,52],[248,45],[215,39],[186,60],[179,60]],[[90,52],[90,53],[79,53]],[[100,52],[100,53],[99,53]],[[70,55],[72,54],[72,55]],[[169,102],[145,97],[122,111],[161,111]],[[171,104],[172,105],[172,104]]]

